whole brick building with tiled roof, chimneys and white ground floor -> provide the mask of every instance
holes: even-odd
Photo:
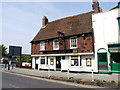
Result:
[[[92,14],[101,11],[97,0],[93,0],[92,8],[51,22],[44,16],[31,41],[32,68],[97,72],[92,29]]]

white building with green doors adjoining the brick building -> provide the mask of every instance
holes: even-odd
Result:
[[[120,3],[106,12],[94,13],[95,60],[99,72],[120,72]]]

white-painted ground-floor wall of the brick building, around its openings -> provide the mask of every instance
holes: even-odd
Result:
[[[45,64],[40,63],[41,56],[45,56]],[[91,72],[93,69],[94,72],[97,72],[97,64],[94,59],[94,53],[68,53],[68,54],[42,54],[42,55],[32,55],[32,68],[35,69],[35,63],[38,64],[38,70],[40,69],[52,69],[56,71],[56,56],[61,57],[61,71],[67,71],[68,69],[70,71],[78,71],[78,72]],[[62,59],[62,56],[65,56],[65,59]],[[72,66],[71,65],[71,56],[78,56],[78,66]],[[35,61],[35,58],[38,58],[37,61]],[[91,58],[91,66],[86,65],[86,58]],[[51,65],[51,59],[54,61],[53,65]],[[39,60],[39,61],[38,61]],[[48,60],[48,63],[47,63]],[[81,62],[81,65],[80,65]]]

